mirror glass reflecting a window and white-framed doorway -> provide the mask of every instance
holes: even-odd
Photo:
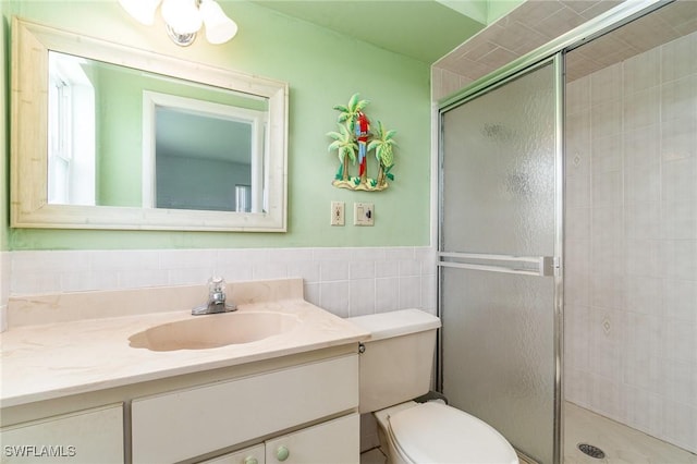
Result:
[[[266,210],[266,98],[56,51],[49,75],[49,204]]]

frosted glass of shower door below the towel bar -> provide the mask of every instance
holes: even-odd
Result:
[[[444,268],[443,393],[515,448],[552,462],[551,278]]]

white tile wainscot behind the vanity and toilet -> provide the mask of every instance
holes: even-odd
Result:
[[[341,317],[436,313],[430,247],[10,252],[7,293],[33,295],[301,277],[305,298]],[[3,272],[3,276],[5,272]],[[5,297],[7,300],[7,297]]]

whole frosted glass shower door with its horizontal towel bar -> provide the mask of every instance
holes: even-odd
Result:
[[[558,60],[441,111],[441,388],[540,463],[561,436]]]

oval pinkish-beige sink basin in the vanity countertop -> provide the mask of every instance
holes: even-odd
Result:
[[[155,326],[129,338],[131,346],[151,351],[206,350],[252,343],[285,333],[301,323],[282,313],[224,313]]]

